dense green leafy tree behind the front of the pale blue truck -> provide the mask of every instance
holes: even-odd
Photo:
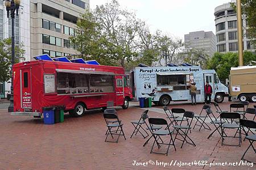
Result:
[[[251,61],[256,61],[256,54],[245,51],[243,58],[246,65],[251,65]],[[208,69],[216,70],[218,78],[225,81],[229,78],[229,71],[231,67],[238,67],[238,54],[237,53],[215,53],[208,62]]]

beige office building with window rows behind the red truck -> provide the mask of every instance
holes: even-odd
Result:
[[[31,59],[40,54],[61,57],[80,54],[69,41],[75,35],[76,22],[89,0],[31,0]]]

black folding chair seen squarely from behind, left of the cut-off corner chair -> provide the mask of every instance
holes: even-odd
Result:
[[[229,145],[229,146],[241,146],[241,128],[239,124],[234,124],[234,120],[240,120],[241,115],[239,113],[236,112],[228,112],[228,113],[221,113],[220,115],[221,121],[224,121],[224,119],[230,119],[230,123],[225,123],[225,124],[220,124],[221,126],[221,146],[222,145],[228,145],[228,144],[224,144],[224,138],[238,138],[239,139],[239,144],[238,145]],[[236,134],[234,136],[228,136],[225,135],[225,129],[237,129],[238,130],[238,137],[236,136]]]

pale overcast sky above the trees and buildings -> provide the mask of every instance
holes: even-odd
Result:
[[[170,36],[184,39],[193,31],[215,32],[214,8],[231,0],[118,0],[123,8],[135,10],[150,29],[162,30]],[[110,0],[90,0],[90,8]]]

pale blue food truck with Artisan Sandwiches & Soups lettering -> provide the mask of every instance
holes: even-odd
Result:
[[[156,105],[191,100],[191,80],[196,83],[198,103],[204,102],[205,82],[212,86],[212,99],[217,103],[229,95],[228,87],[220,83],[215,70],[203,70],[200,66],[137,67],[131,71],[131,79],[135,99],[151,97]]]

